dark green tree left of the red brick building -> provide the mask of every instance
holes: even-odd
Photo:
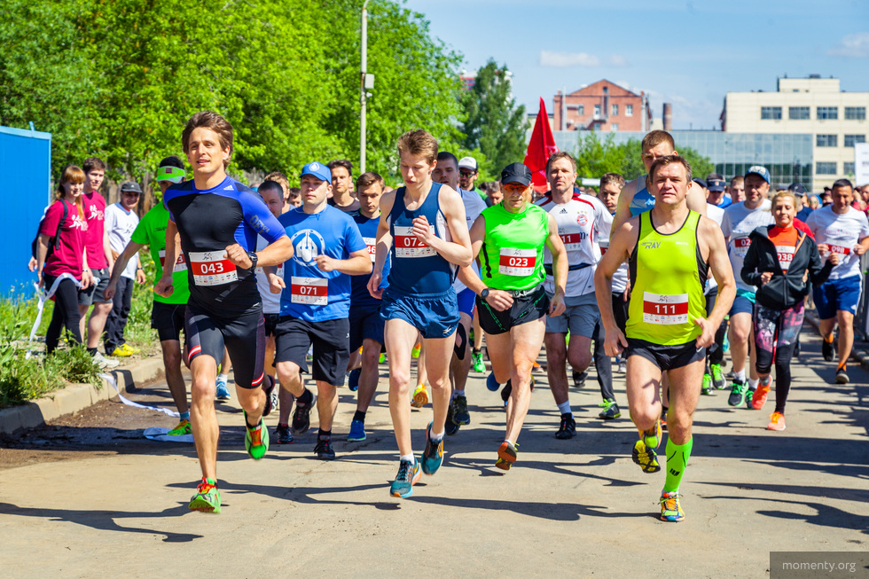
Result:
[[[477,71],[474,87],[462,93],[461,104],[466,116],[461,145],[486,155],[485,171],[497,175],[525,158],[525,106],[516,106],[506,66],[489,60]]]

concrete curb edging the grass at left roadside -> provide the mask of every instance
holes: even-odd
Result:
[[[160,357],[145,358],[129,367],[109,372],[121,392],[133,392],[163,373]],[[92,384],[69,384],[50,395],[33,402],[0,411],[0,434],[17,434],[22,430],[43,426],[47,421],[59,419],[103,401],[117,399],[117,394],[106,379],[101,387]]]

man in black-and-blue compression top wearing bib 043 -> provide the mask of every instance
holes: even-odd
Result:
[[[254,270],[257,265],[286,262],[293,246],[260,197],[226,176],[232,155],[232,125],[226,119],[210,111],[196,113],[187,121],[181,141],[193,180],[170,186],[163,203],[169,212],[165,262],[176,262],[177,234],[189,274],[184,335],[192,374],[191,426],[202,470],[190,508],[220,512],[217,363],[225,347],[235,366],[236,395],[245,413],[245,448],[251,458],[262,458],[269,450],[269,431],[262,424],[268,396],[262,388],[265,333]],[[270,246],[254,253],[257,233]],[[169,297],[173,289],[167,268],[154,291]]]

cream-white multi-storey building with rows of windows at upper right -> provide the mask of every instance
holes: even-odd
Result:
[[[854,176],[854,144],[869,134],[869,92],[843,92],[839,79],[779,78],[777,92],[728,92],[722,129],[732,133],[808,133],[816,192]]]

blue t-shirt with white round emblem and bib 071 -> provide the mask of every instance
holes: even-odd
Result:
[[[307,322],[348,317],[350,277],[339,271],[322,271],[314,259],[326,255],[346,260],[365,249],[353,219],[335,207],[308,215],[296,207],[278,217],[293,242],[294,254],[284,263],[286,289],[280,296],[280,315]]]

